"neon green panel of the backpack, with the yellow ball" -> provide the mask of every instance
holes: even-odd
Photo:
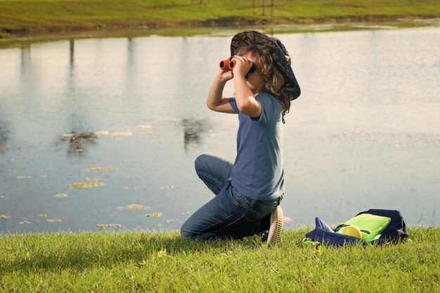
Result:
[[[380,233],[387,228],[389,222],[391,222],[389,217],[381,217],[375,214],[358,214],[344,224],[337,226],[335,232],[361,238],[365,241],[372,241],[380,236]]]

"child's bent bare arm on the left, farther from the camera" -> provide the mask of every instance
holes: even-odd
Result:
[[[206,105],[212,111],[236,114],[229,99],[223,96],[226,82],[233,78],[232,71],[221,70],[216,75],[206,98]]]

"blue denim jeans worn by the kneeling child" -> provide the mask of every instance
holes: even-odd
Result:
[[[275,200],[254,200],[231,186],[233,163],[214,154],[195,159],[198,177],[216,194],[200,207],[181,228],[183,238],[235,238],[252,236],[261,230],[261,220],[279,204]]]

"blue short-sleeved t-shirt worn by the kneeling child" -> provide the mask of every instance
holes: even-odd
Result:
[[[284,193],[283,105],[268,93],[255,99],[261,104],[259,118],[240,113],[235,99],[229,99],[239,121],[231,184],[244,196],[272,200]]]

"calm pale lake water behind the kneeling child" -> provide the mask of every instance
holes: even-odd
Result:
[[[212,198],[195,158],[235,157],[237,116],[205,107],[231,36],[2,48],[0,231],[180,229]],[[275,36],[302,87],[285,117],[285,227],[369,208],[438,226],[440,27]]]

